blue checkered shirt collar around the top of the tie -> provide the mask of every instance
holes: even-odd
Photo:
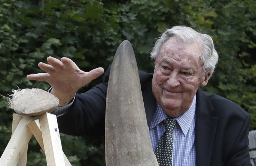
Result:
[[[177,123],[181,127],[181,130],[184,135],[187,135],[191,122],[194,119],[195,112],[196,112],[196,95],[194,96],[189,109],[184,114],[175,118]],[[157,103],[156,111],[155,111],[150,129],[153,129],[154,127],[156,127],[159,123],[161,123],[167,117],[168,116],[166,115],[166,113],[162,110],[162,108]]]

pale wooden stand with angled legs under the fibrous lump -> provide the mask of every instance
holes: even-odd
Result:
[[[28,143],[34,135],[45,152],[47,166],[71,166],[62,151],[56,115],[43,113],[39,119],[13,114],[12,137],[1,158],[1,166],[26,166]]]

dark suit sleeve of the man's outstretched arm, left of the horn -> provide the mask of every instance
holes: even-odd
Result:
[[[102,136],[105,131],[106,92],[110,69],[103,83],[81,94],[76,94],[68,112],[57,117],[60,132],[69,135]]]

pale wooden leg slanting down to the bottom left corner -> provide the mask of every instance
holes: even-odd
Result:
[[[22,117],[0,158],[1,166],[16,166],[18,164],[32,136],[27,124],[33,120],[30,116]]]

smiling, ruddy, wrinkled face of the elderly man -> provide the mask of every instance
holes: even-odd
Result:
[[[203,74],[200,52],[199,43],[180,44],[172,37],[162,45],[155,59],[153,94],[157,103],[171,117],[186,112],[198,87],[208,82],[210,72]]]

